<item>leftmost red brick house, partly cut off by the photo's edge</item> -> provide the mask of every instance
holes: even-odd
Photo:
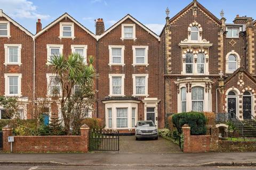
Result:
[[[21,118],[33,115],[34,36],[0,10],[0,95],[17,97]],[[0,119],[10,118],[0,106]]]

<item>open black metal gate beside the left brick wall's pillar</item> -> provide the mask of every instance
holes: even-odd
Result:
[[[89,150],[119,151],[119,131],[90,130]]]

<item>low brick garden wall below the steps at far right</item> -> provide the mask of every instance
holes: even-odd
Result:
[[[219,151],[222,152],[254,152],[256,151],[256,141],[225,141],[219,140]]]

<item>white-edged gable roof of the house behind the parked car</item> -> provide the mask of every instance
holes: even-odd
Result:
[[[158,41],[160,41],[160,37],[157,36],[157,34],[153,31],[151,31],[149,28],[147,28],[145,25],[143,25],[141,22],[139,22],[138,20],[136,20],[135,18],[133,18],[130,14],[127,14],[126,16],[124,16],[124,18],[122,18],[121,20],[119,20],[117,23],[115,23],[112,27],[110,27],[109,29],[107,29],[104,33],[102,33],[102,35],[100,35],[98,38],[102,38],[104,37],[108,32],[110,32],[111,30],[113,30],[114,28],[116,28],[119,24],[121,24],[122,22],[124,22],[126,19],[131,19],[133,22],[137,23],[138,25],[140,25],[141,28],[145,29],[148,33],[150,33],[151,35],[153,35],[156,39],[158,39]]]

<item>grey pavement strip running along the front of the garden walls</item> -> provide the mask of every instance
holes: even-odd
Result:
[[[131,146],[132,147],[132,146]],[[0,154],[0,164],[84,166],[256,166],[255,152],[207,152],[198,154]],[[1,168],[0,168],[1,169]]]

